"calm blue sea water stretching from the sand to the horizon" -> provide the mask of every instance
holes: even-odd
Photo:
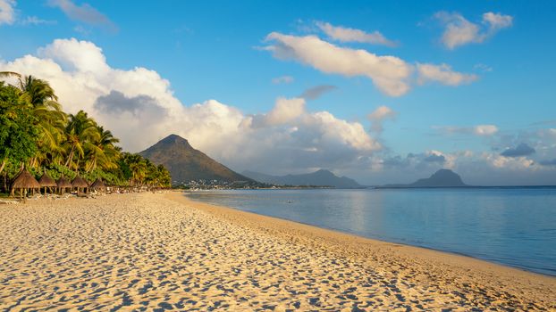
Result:
[[[249,190],[189,196],[556,275],[556,188]]]

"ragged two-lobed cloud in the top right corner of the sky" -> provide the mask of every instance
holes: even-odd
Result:
[[[493,12],[483,14],[483,25],[468,21],[457,12],[437,12],[434,17],[445,27],[441,41],[449,49],[455,49],[460,45],[482,43],[487,38],[493,37],[499,30],[510,27],[513,21],[510,15]]]

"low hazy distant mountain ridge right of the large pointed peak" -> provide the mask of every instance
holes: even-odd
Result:
[[[314,185],[314,186],[333,186],[336,188],[360,188],[355,180],[349,177],[338,177],[332,172],[320,169],[313,173],[302,175],[287,175],[287,176],[270,176],[263,173],[253,171],[243,171],[243,175],[250,177],[258,182],[268,183],[272,185]]]

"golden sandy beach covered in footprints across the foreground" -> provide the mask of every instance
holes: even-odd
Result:
[[[0,206],[0,310],[553,310],[556,278],[190,201]]]

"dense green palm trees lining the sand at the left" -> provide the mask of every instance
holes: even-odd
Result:
[[[86,191],[95,181],[97,186],[170,186],[164,166],[122,152],[119,140],[87,112],[62,111],[47,81],[5,71],[0,78],[1,193]]]

